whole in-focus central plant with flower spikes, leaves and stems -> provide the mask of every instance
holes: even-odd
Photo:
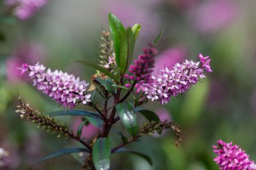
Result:
[[[94,67],[96,74],[92,82],[80,81],[79,78],[62,71],[51,71],[44,65],[23,64],[18,68],[21,73],[28,73],[34,86],[42,93],[55,99],[66,110],[42,114],[30,107],[24,99],[19,97],[20,105],[16,112],[21,118],[34,122],[38,128],[42,127],[46,132],[57,134],[57,137],[65,136],[81,143],[82,148],[64,148],[46,157],[39,159],[37,163],[53,157],[71,153],[86,153],[81,157],[84,162],[83,169],[110,169],[110,155],[113,153],[133,153],[146,159],[150,164],[152,160],[147,155],[137,151],[129,151],[125,146],[137,141],[143,135],[161,134],[164,129],[172,129],[177,136],[176,144],[181,141],[181,128],[167,120],[161,122],[158,116],[151,110],[141,106],[148,101],[170,102],[172,97],[187,91],[191,85],[203,79],[204,71],[211,72],[209,56],[199,54],[199,61],[185,60],[177,63],[172,69],[165,68],[159,71],[159,75],[151,75],[154,68],[154,57],[157,54],[156,44],[162,35],[158,34],[154,42],[143,48],[143,54],[139,55],[131,65],[135,40],[139,35],[141,26],[135,24],[132,28],[124,28],[119,19],[113,13],[109,13],[110,32],[102,32],[100,42],[100,57],[98,65],[87,60],[76,60],[85,65]],[[88,105],[96,112],[88,110],[75,110],[79,104]],[[148,122],[139,126],[137,114],[142,114]],[[69,130],[68,126],[55,116],[82,116],[82,124],[76,132]],[[120,120],[120,121],[119,121]],[[94,124],[100,129],[95,140],[88,142],[81,136],[82,128]],[[117,146],[110,143],[110,131],[114,124],[121,122],[130,136],[122,132],[122,141]],[[114,130],[113,130],[114,131]]]

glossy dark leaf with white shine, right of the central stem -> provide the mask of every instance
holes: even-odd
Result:
[[[119,118],[131,136],[136,136],[139,130],[137,116],[134,114],[133,104],[129,102],[119,103],[116,106]]]

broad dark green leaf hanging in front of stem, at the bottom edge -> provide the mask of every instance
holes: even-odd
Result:
[[[109,138],[98,138],[92,148],[92,160],[96,170],[110,169],[111,146]]]

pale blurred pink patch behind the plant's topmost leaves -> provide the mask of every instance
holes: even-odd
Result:
[[[154,8],[150,7],[150,4],[154,4],[154,1],[151,0],[149,2],[127,0],[105,1],[102,15],[106,16],[106,13],[111,11],[114,15],[117,15],[125,27],[133,26],[135,23],[141,24],[141,36],[156,35],[160,31],[159,18],[152,11]]]

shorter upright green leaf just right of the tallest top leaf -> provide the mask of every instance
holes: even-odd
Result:
[[[134,44],[134,34],[131,31],[131,28],[127,28],[127,30],[125,30],[125,32],[121,34],[119,68],[122,73],[125,73],[128,65],[128,60],[133,56]]]

